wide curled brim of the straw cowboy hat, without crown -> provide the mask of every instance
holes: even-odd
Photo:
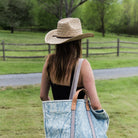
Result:
[[[47,44],[62,44],[65,42],[71,42],[71,41],[75,41],[75,40],[79,40],[87,37],[94,37],[94,34],[92,33],[84,33],[71,38],[56,37],[55,34],[57,34],[57,29],[54,29],[48,32],[45,36],[45,42]]]

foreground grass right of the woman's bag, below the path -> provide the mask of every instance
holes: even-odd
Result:
[[[109,138],[138,137],[138,77],[96,81],[103,108],[110,116]]]

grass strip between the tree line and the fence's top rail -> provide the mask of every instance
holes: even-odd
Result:
[[[93,33],[94,37],[89,38],[90,41],[99,42],[99,41],[116,41],[117,38],[120,38],[121,41],[131,41],[138,42],[138,38],[135,37],[124,37],[117,36],[115,34],[105,34],[105,37],[102,37],[101,33],[83,30],[84,33]],[[18,32],[15,31],[14,34],[11,34],[10,31],[0,30],[0,42],[5,41],[5,43],[44,43],[45,33],[39,32]],[[83,41],[86,41],[84,39]]]

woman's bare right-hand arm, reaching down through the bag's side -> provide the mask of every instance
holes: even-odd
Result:
[[[84,88],[88,91],[88,96],[90,98],[92,108],[94,110],[102,109],[97,95],[93,71],[89,62],[86,59],[82,63],[81,75],[82,83]]]

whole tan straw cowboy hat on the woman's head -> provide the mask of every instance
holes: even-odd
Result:
[[[80,19],[64,18],[58,21],[57,29],[46,34],[45,42],[48,44],[62,44],[93,36],[92,33],[82,33]]]

